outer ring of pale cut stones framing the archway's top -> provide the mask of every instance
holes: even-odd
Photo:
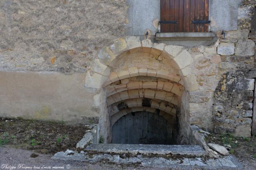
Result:
[[[186,49],[182,46],[152,43],[149,39],[141,41],[140,37],[135,36],[117,39],[112,45],[104,47],[99,51],[98,57],[86,73],[86,88],[100,89],[103,84],[109,84],[110,66],[116,63],[119,58],[140,49],[146,53],[162,55],[163,57],[169,58],[173,66],[180,72],[182,79],[180,84],[184,85],[188,92],[198,90],[196,76],[188,68],[188,65],[192,64],[194,59]],[[117,77],[117,79],[120,78]]]

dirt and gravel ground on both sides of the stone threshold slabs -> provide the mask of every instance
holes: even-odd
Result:
[[[158,169],[138,165],[118,165],[98,162],[52,160],[51,156],[66,149],[75,150],[76,143],[82,139],[85,125],[66,125],[65,122],[37,121],[25,119],[10,119],[0,117],[0,165],[24,163],[25,166],[66,166],[69,169]],[[234,154],[243,164],[244,169],[256,169],[256,137],[242,138],[232,135],[208,135],[207,143],[230,145]],[[166,168],[174,169],[174,168]],[[177,169],[177,168],[175,168]],[[177,170],[201,170],[196,166],[180,167]]]

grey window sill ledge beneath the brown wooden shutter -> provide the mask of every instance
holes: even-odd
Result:
[[[214,33],[156,33],[156,40],[212,40]]]

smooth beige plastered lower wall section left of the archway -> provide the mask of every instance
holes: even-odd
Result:
[[[95,94],[84,89],[85,73],[0,72],[0,115],[68,123],[97,123]]]

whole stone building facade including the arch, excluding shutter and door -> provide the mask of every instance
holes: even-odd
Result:
[[[157,37],[160,0],[2,0],[0,115],[99,123],[106,142],[140,111],[180,143],[190,125],[250,136],[255,11],[255,0],[210,0],[213,36],[170,40]]]

